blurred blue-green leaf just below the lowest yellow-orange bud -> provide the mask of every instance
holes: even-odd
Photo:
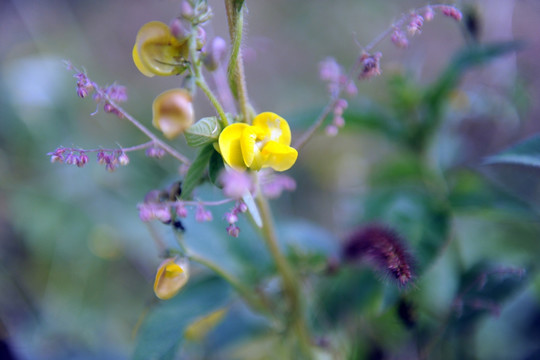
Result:
[[[219,278],[188,283],[171,300],[150,310],[137,334],[135,360],[173,359],[186,327],[229,300],[229,285]]]

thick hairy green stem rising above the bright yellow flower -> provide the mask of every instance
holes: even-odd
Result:
[[[227,9],[227,20],[229,24],[229,34],[233,48],[227,68],[229,84],[233,90],[233,94],[240,105],[240,112],[244,122],[250,124],[254,116],[253,109],[249,103],[247,86],[244,73],[244,61],[242,59],[242,33],[244,27],[244,7],[239,10],[234,5],[234,0],[225,0]]]

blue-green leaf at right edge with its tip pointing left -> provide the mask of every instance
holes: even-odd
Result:
[[[486,159],[484,173],[518,198],[540,204],[540,136]]]

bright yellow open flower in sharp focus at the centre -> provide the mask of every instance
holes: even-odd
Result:
[[[298,152],[291,145],[291,130],[285,119],[264,112],[253,119],[253,125],[235,123],[219,135],[219,151],[225,162],[236,170],[276,171],[290,169]]]

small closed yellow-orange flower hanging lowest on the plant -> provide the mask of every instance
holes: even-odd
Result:
[[[189,278],[188,263],[176,258],[164,260],[158,268],[154,281],[154,293],[161,300],[168,300],[178,294]]]

